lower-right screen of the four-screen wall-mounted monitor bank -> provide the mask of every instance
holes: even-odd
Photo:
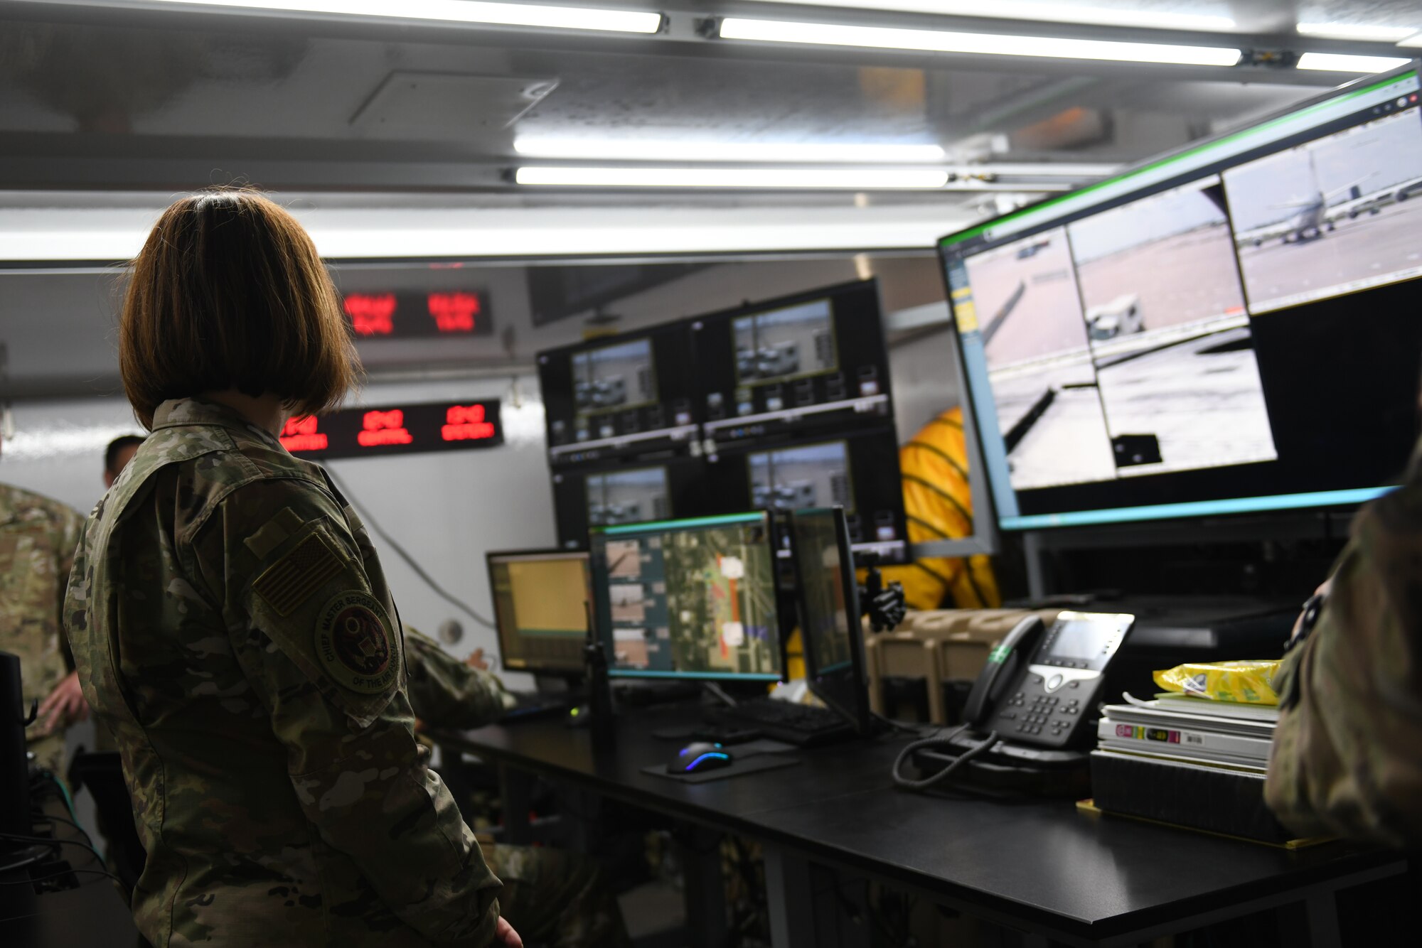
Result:
[[[839,438],[728,445],[707,459],[707,497],[718,512],[845,510],[856,551],[907,556],[899,439],[893,428]]]

